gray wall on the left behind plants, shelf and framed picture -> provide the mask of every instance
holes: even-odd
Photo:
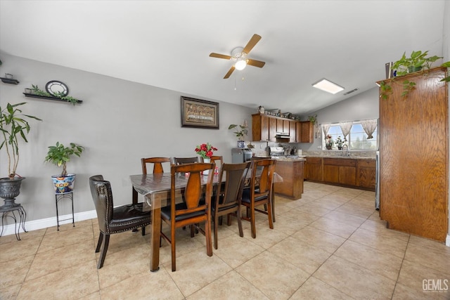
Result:
[[[141,173],[141,157],[195,156],[195,146],[209,142],[219,149],[217,155],[231,162],[231,148],[236,147],[237,139],[228,126],[241,124],[244,119],[251,126],[251,114],[256,111],[256,107],[251,110],[219,103],[219,130],[182,128],[180,96],[214,99],[4,53],[0,59],[2,77],[4,73],[11,73],[20,81],[17,86],[0,83],[0,106],[26,101],[23,112],[43,119],[43,122],[30,122],[29,143],[20,145],[17,173],[26,179],[17,202],[25,207],[27,221],[56,216],[51,175],[61,170],[53,164],[44,164],[48,146],[56,141],[79,143],[86,148],[82,157],[75,157],[68,163],[68,172],[77,174],[75,213],[92,211],[89,176],[103,174],[112,183],[115,204],[128,203],[131,200],[129,175]],[[69,103],[23,95],[24,89],[32,84],[44,90],[50,80],[63,81],[69,86],[69,96],[84,102],[74,107]],[[6,177],[7,173],[6,152],[1,150],[0,176]],[[67,210],[62,212],[68,213]]]

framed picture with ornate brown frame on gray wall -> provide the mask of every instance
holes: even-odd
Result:
[[[219,103],[181,96],[181,127],[219,129]]]

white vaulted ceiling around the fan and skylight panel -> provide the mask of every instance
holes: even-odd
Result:
[[[0,1],[1,53],[306,115],[375,87],[406,51],[442,56],[445,1]],[[230,55],[262,39],[223,79]],[[439,65],[440,61],[437,62]],[[436,66],[437,66],[436,65]],[[332,95],[311,84],[344,86]],[[345,96],[344,93],[358,89]]]

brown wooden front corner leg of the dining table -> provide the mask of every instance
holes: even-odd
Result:
[[[161,197],[160,195],[152,195],[150,197],[150,203],[152,205],[150,272],[156,272],[160,269]]]

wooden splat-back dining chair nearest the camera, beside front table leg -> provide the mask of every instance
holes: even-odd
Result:
[[[202,174],[203,171],[210,170],[208,176]],[[176,166],[172,164],[170,167],[171,190],[169,207],[161,208],[161,220],[170,226],[170,237],[165,235],[161,230],[161,237],[169,242],[172,247],[172,272],[176,270],[175,258],[175,230],[184,226],[195,226],[197,230],[206,237],[206,253],[212,256],[212,240],[211,240],[211,198],[212,198],[212,181],[214,179],[214,164],[196,163],[196,164],[180,164]],[[181,191],[184,194],[184,202],[176,203],[176,176],[179,174],[189,173],[186,188]],[[205,201],[203,198],[203,186],[205,183]],[[205,230],[200,228],[198,224],[205,223]]]

